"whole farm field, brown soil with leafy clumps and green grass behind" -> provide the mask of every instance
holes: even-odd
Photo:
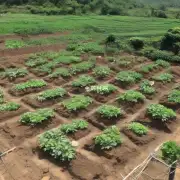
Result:
[[[104,55],[93,44],[112,32],[159,36],[179,21],[136,18],[133,27],[133,18],[106,18],[118,23],[105,26],[105,17],[96,16],[0,19],[0,24],[9,22],[0,30],[0,151],[16,147],[2,158],[0,180],[123,179],[159,144],[180,143],[179,64],[125,52]],[[22,38],[13,34],[15,29],[37,24],[56,33],[29,36],[29,47],[5,47],[6,41]],[[105,32],[102,37],[80,33],[97,24],[97,31]],[[55,43],[44,43],[57,37]],[[34,43],[37,39],[41,44]],[[97,51],[81,54],[79,48],[75,53],[68,46],[74,41],[92,43],[85,47]]]

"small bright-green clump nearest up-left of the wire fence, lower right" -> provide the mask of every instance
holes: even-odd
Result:
[[[128,125],[128,129],[135,133],[137,136],[143,136],[148,133],[148,128],[138,122],[132,122]]]

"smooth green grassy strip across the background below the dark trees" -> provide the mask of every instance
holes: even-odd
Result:
[[[0,17],[0,34],[12,34],[17,28],[43,26],[55,31],[95,30],[118,36],[159,36],[169,28],[179,26],[178,19],[126,16],[40,16],[7,14]]]

